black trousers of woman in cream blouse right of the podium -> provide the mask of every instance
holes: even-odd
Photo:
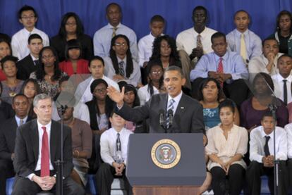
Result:
[[[211,169],[212,189],[215,195],[238,195],[241,194],[244,181],[244,168],[241,165],[233,164],[229,168],[228,175],[221,167]],[[226,185],[226,183],[228,185]]]

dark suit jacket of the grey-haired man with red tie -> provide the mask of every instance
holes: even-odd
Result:
[[[61,125],[51,120],[50,134],[50,160],[56,170],[55,161],[61,159]],[[16,158],[13,161],[16,174],[20,177],[28,177],[35,173],[39,157],[39,132],[37,119],[21,125],[16,132]],[[71,128],[63,127],[63,177],[68,177],[73,170],[72,163],[72,138]]]

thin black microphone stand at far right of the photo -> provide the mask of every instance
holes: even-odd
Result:
[[[279,159],[276,159],[276,108],[277,106],[273,103],[269,104],[269,109],[273,115],[273,135],[274,135],[274,194],[277,195],[279,191]]]

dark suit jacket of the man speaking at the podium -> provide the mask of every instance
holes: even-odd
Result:
[[[149,118],[150,133],[164,133],[165,130],[159,125],[159,111],[166,111],[168,94],[156,94],[143,106],[130,108],[123,105],[116,113],[126,120],[139,122]],[[201,104],[190,96],[183,94],[174,114],[173,125],[167,130],[168,133],[202,132],[205,134],[205,125]]]

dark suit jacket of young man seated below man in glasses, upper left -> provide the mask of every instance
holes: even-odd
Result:
[[[35,72],[37,68],[39,68],[39,63],[35,65],[35,63],[32,61],[32,56],[28,54],[25,58],[23,58],[21,61],[18,61],[16,63],[17,66],[17,78],[19,80],[27,80],[30,77],[30,73]]]

